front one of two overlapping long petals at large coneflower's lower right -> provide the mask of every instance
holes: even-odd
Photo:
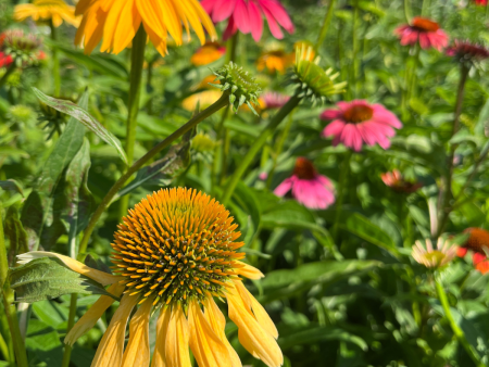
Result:
[[[242,346],[268,367],[279,367],[284,356],[276,340],[266,332],[247,309],[234,286],[227,288],[229,318],[238,326],[238,338]]]

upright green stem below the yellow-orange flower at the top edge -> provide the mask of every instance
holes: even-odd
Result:
[[[139,100],[141,97],[142,65],[145,64],[145,49],[147,35],[141,25],[133,39],[133,50],[130,52],[130,76],[129,76],[129,100],[127,103],[127,123],[126,123],[126,154],[128,166],[134,161],[134,145],[136,143],[136,127],[139,112]],[[124,216],[129,205],[129,195],[121,199],[120,217]]]

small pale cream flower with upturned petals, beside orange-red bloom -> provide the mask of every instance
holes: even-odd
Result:
[[[449,264],[456,255],[457,246],[448,239],[438,238],[437,246],[434,249],[431,240],[426,239],[425,244],[416,241],[413,246],[413,258],[427,268],[439,268]]]

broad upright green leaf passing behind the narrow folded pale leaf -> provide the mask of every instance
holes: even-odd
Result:
[[[79,104],[86,106],[87,103],[88,94],[84,93]],[[39,245],[49,250],[64,232],[63,224],[53,220],[52,204],[63,170],[82,148],[84,135],[85,126],[70,118],[23,206],[21,220],[27,231],[30,251],[37,250]]]

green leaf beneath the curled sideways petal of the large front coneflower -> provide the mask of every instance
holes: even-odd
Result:
[[[53,257],[36,258],[11,269],[10,286],[15,291],[16,302],[26,303],[52,300],[68,293],[113,296],[97,281],[73,271]]]

